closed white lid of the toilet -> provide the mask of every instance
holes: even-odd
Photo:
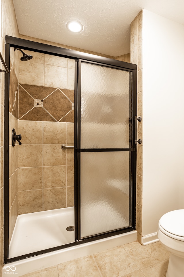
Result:
[[[164,214],[160,218],[159,223],[160,226],[167,232],[179,237],[184,237],[184,209]]]

